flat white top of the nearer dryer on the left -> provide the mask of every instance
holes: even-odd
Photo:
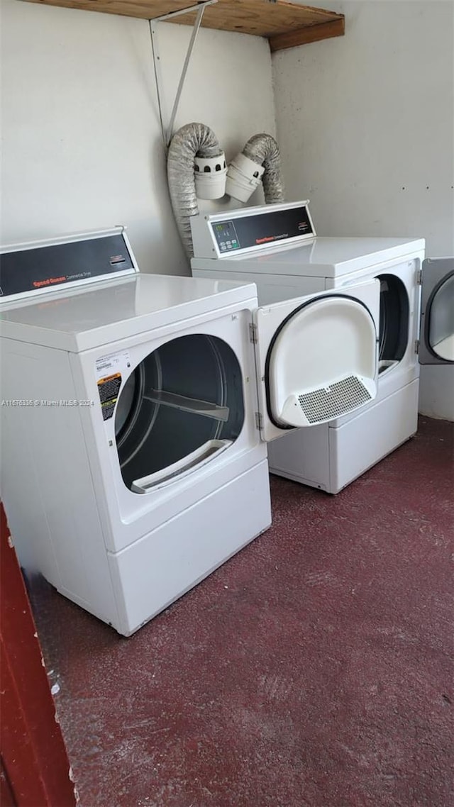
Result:
[[[1,308],[2,337],[78,352],[254,299],[254,285],[137,274]]]

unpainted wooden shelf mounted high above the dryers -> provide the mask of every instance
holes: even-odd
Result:
[[[154,19],[171,11],[194,6],[193,0],[27,0],[47,6],[65,6],[103,11],[141,19]],[[191,25],[195,12],[180,15],[174,23]],[[170,22],[170,20],[169,20]],[[343,36],[344,16],[310,6],[296,6],[284,0],[218,0],[204,10],[202,27],[216,31],[264,36],[271,51]]]

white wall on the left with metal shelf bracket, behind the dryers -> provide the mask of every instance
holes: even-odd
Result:
[[[1,242],[127,224],[142,271],[189,274],[170,207],[145,20],[1,0]],[[191,28],[160,23],[170,115]],[[175,127],[235,153],[275,134],[259,37],[201,30]]]

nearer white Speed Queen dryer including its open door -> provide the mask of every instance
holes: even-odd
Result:
[[[140,274],[123,228],[2,249],[19,559],[129,635],[271,523],[267,442],[376,395],[380,284],[258,307]]]

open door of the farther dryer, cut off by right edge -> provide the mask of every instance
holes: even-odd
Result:
[[[454,257],[422,262],[420,364],[454,362]]]

